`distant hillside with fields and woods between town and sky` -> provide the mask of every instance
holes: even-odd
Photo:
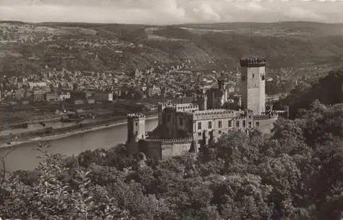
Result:
[[[307,22],[146,26],[91,23],[0,23],[0,74],[135,69],[154,61],[193,61],[194,68],[236,69],[246,56],[268,68],[342,66],[343,25]]]

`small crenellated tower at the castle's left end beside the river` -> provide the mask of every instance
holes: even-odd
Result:
[[[128,114],[128,140],[127,143],[145,140],[145,115]]]

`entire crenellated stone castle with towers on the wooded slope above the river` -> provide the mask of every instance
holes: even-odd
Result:
[[[128,147],[132,153],[165,159],[215,143],[230,130],[269,133],[279,115],[265,110],[265,60],[241,59],[242,110],[230,110],[222,80],[212,88],[200,88],[198,103],[158,103],[158,126],[147,134],[145,115],[128,114]]]

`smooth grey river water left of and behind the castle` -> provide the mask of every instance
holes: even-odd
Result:
[[[147,119],[145,121],[145,131],[150,132],[157,126],[157,119]],[[76,134],[67,138],[60,138],[48,141],[49,153],[64,154],[67,156],[78,155],[87,149],[95,150],[98,148],[108,149],[115,145],[126,143],[128,136],[127,125],[117,125],[114,127],[104,128],[86,132],[84,134]],[[0,148],[0,157],[5,156],[10,151],[10,154],[5,157],[5,167],[7,171],[16,171],[19,169],[32,170],[40,159],[38,151],[34,148],[38,143],[23,143],[11,148]],[[0,165],[0,169],[2,166]]]

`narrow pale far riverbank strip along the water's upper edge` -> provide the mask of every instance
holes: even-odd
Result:
[[[157,119],[158,116],[156,115],[151,115],[147,116],[146,120],[152,120],[152,119]],[[94,127],[86,127],[84,129],[80,128],[78,130],[71,130],[69,132],[64,132],[63,134],[53,134],[49,136],[40,136],[40,137],[35,137],[35,138],[29,138],[27,140],[13,140],[11,143],[2,143],[0,144],[0,148],[8,148],[8,147],[15,147],[17,145],[22,145],[25,143],[32,143],[32,142],[40,142],[40,141],[49,141],[49,140],[56,140],[56,139],[62,139],[62,138],[67,138],[69,136],[74,136],[77,134],[84,134],[87,132],[93,132],[96,130],[102,130],[106,129],[109,127],[116,127],[119,125],[125,125],[127,123],[127,120],[122,120],[122,121],[115,121],[112,123],[106,123],[102,125],[95,125]]]

